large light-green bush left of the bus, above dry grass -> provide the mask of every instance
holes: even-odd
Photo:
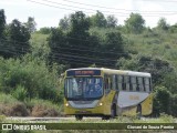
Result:
[[[59,86],[60,69],[50,66],[44,61],[24,57],[22,60],[0,59],[0,88],[1,92],[12,93],[14,98],[23,101],[25,98],[39,98],[61,102]]]

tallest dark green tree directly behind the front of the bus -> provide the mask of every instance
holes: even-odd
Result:
[[[90,19],[82,11],[71,14],[70,18],[71,25],[66,33],[67,47],[70,50],[65,51],[64,58],[67,57],[67,62],[70,62],[72,68],[77,68],[81,64],[88,65],[92,64],[92,60],[86,58],[88,51],[93,48],[91,42],[91,35],[88,33]],[[92,55],[92,54],[91,54]],[[83,63],[84,62],[84,63]]]

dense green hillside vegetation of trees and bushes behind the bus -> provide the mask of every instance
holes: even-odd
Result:
[[[25,23],[15,19],[8,24],[0,10],[0,93],[27,109],[25,115],[40,110],[32,101],[62,104],[65,69],[104,66],[150,72],[153,115],[177,116],[177,24],[162,18],[150,29],[140,14],[132,13],[118,25],[114,16],[105,18],[100,11],[91,17],[72,13],[58,28],[37,31],[35,24],[31,17]],[[10,104],[4,101],[2,96],[0,114]]]

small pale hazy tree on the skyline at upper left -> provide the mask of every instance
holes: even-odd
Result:
[[[34,31],[37,31],[37,22],[34,21],[34,18],[29,17],[28,18],[28,22],[25,23],[25,27],[29,29],[30,33],[33,33]]]

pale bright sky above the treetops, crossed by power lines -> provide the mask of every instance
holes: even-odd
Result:
[[[0,9],[4,10],[7,23],[13,19],[27,22],[33,17],[38,29],[58,27],[60,19],[75,11],[92,16],[96,10],[105,17],[115,16],[117,24],[124,24],[132,12],[139,13],[150,28],[160,18],[170,25],[177,23],[177,0],[0,0]]]

